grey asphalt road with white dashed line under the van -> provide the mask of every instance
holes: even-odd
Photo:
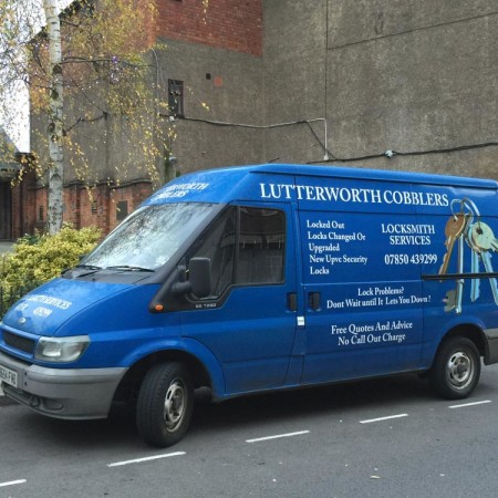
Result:
[[[0,406],[0,497],[496,497],[498,365],[465,402],[416,376],[201,397],[176,446],[126,418],[62,422]]]

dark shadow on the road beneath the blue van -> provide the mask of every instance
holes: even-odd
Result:
[[[434,400],[427,382],[416,375],[268,393],[219,404],[210,403],[207,390],[200,390],[196,396],[189,439],[194,434],[219,435],[222,432],[257,428],[261,424],[277,425],[282,419],[289,424],[293,419],[304,422],[308,417],[346,418],[357,409],[382,411],[383,405],[388,405],[390,409],[393,405],[407,409],[412,403]],[[115,412],[104,421],[70,422],[46,418],[25,407],[3,409],[15,409],[9,430],[19,433],[21,438],[30,438],[31,444],[37,446],[42,444],[53,450],[77,448],[79,452],[103,448],[113,452],[151,450],[139,440],[134,417],[127,413]]]

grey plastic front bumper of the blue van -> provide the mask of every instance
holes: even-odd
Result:
[[[18,374],[18,387],[3,393],[34,412],[55,418],[105,418],[126,367],[48,369],[0,352],[0,365]]]

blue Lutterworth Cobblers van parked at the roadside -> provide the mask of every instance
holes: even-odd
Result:
[[[156,446],[215,401],[401,372],[468,396],[498,362],[498,184],[325,166],[163,187],[0,323],[4,394],[58,418],[136,409]],[[497,267],[498,268],[498,267]]]

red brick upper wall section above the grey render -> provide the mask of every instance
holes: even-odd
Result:
[[[157,0],[158,37],[261,56],[261,0]]]

